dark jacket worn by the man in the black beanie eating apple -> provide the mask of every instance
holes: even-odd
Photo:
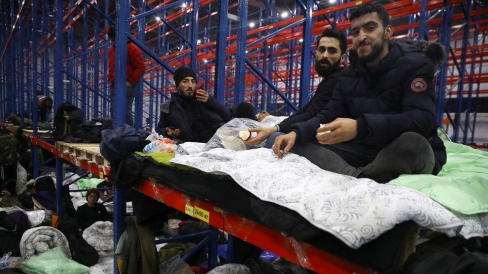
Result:
[[[166,127],[181,130],[179,139],[189,142],[207,142],[215,131],[230,120],[230,111],[214,97],[209,96],[206,103],[194,100],[189,106],[177,93],[161,104],[161,115],[157,133],[167,137]],[[199,123],[200,126],[195,126]]]

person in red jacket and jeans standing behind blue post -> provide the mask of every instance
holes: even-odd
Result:
[[[114,90],[115,83],[115,27],[108,27],[107,31],[108,39],[112,42],[112,45],[108,49],[108,82],[110,83],[110,102],[115,101],[116,92]],[[127,91],[125,94],[125,124],[129,126],[134,125],[134,117],[132,115],[132,104],[135,97],[136,85],[140,82],[142,75],[145,72],[145,63],[142,58],[142,51],[132,42],[127,41],[127,68],[125,85]],[[110,104],[110,117],[113,124],[113,103]]]

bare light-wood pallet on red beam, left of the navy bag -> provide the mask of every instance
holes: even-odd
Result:
[[[99,165],[109,166],[107,160],[100,154],[100,144],[72,144],[56,142],[56,148],[62,153],[76,155],[79,159],[85,159]]]

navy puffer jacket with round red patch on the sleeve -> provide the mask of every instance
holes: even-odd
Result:
[[[436,161],[433,173],[437,174],[446,155],[436,134],[436,94],[432,84],[433,61],[439,60],[429,57],[422,48],[393,40],[388,54],[371,71],[360,63],[345,68],[326,109],[317,117],[292,126],[298,141],[312,140],[319,124],[338,117],[356,119],[357,135],[352,142],[378,151],[400,134],[416,132],[432,146]]]

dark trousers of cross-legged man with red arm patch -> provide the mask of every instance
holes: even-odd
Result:
[[[378,183],[387,183],[401,174],[432,174],[434,168],[432,148],[427,139],[418,133],[405,132],[378,153],[371,150],[369,155],[366,155],[367,149],[358,145],[340,144],[342,146],[307,142],[295,145],[291,152],[307,158],[321,169],[357,178],[371,178]],[[359,151],[354,151],[356,148]],[[352,161],[350,158],[354,154],[364,154],[364,157]],[[364,161],[368,162],[362,167],[351,163]]]

